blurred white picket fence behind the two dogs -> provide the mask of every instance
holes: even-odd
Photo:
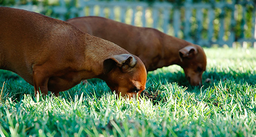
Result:
[[[29,11],[36,11],[36,12],[43,12],[48,9],[52,9],[53,11],[53,18],[66,20],[66,18],[73,18],[75,16],[84,16],[84,15],[95,15],[98,13],[99,16],[106,17],[105,9],[109,9],[108,12],[108,18],[116,20],[117,17],[117,11],[114,10],[116,7],[120,8],[120,21],[125,22],[126,20],[126,13],[128,9],[132,9],[132,15],[131,15],[131,25],[138,25],[135,19],[138,19],[137,14],[138,12],[142,12],[142,15],[139,19],[140,24],[142,26],[147,26],[148,20],[145,16],[147,10],[151,10],[153,19],[153,28],[160,29],[164,33],[169,33],[169,26],[173,25],[173,31],[171,32],[175,37],[180,37],[180,32],[183,31],[183,38],[189,42],[193,42],[195,44],[200,44],[203,46],[210,47],[212,44],[227,44],[228,46],[232,46],[233,42],[239,42],[241,44],[250,42],[252,45],[254,44],[254,47],[256,48],[256,6],[255,2],[252,0],[249,1],[240,1],[240,3],[235,4],[234,1],[232,3],[227,3],[226,1],[220,1],[215,2],[215,0],[210,0],[209,3],[193,3],[192,0],[185,0],[184,4],[180,7],[184,8],[185,10],[181,10],[180,7],[174,7],[172,3],[169,3],[167,1],[155,1],[153,4],[151,4],[151,7],[148,7],[148,3],[145,1],[126,1],[126,0],[120,0],[120,1],[96,1],[96,0],[75,0],[75,1],[66,1],[66,0],[57,0],[59,2],[59,5],[55,6],[47,6],[43,7],[42,1],[38,0],[38,5],[33,5],[32,0],[25,0],[26,4],[22,4],[21,0],[15,0],[15,5],[12,7],[15,8],[21,8]],[[23,0],[24,2],[24,0]],[[66,2],[68,2],[70,5],[68,5]],[[78,3],[78,4],[76,4]],[[243,23],[241,25],[241,30],[243,31],[243,34],[239,37],[236,36],[236,32],[234,31],[234,26],[237,24],[237,19],[235,18],[235,12],[237,12],[237,8],[235,8],[236,5],[242,5],[243,6]],[[248,21],[245,19],[245,13],[247,13],[248,5],[251,5],[253,7],[252,12],[252,20]],[[99,8],[96,8],[99,7]],[[139,9],[138,7],[141,7],[142,9]],[[214,28],[214,21],[215,18],[215,9],[220,8],[222,11],[221,16],[219,19],[219,30],[216,30]],[[227,8],[228,10],[231,10],[231,20],[230,24],[226,24],[228,22],[225,22],[226,19],[226,11],[224,9]],[[88,9],[88,10],[87,10]],[[191,18],[192,18],[192,9],[196,9],[196,22],[198,28],[196,29],[195,39],[192,39],[191,37]],[[206,9],[207,13],[203,13],[202,9]],[[89,13],[86,13],[86,11]],[[98,11],[96,11],[98,10]],[[173,16],[170,16],[170,11],[173,11]],[[184,12],[184,18],[181,20],[181,12]],[[203,16],[203,14],[207,14],[207,17]],[[182,14],[183,15],[183,14]],[[207,18],[209,22],[207,25],[207,28],[203,28],[203,19]],[[118,20],[119,20],[118,19]],[[173,22],[170,22],[173,21]],[[161,22],[161,25],[159,23]],[[252,23],[251,30],[244,29],[246,27],[245,24]],[[160,28],[159,28],[160,26]],[[228,27],[227,27],[228,26]],[[182,30],[181,30],[182,27]],[[207,29],[207,33],[202,33],[203,29]],[[251,37],[245,37],[245,31],[248,33],[251,33]],[[217,35],[217,40],[213,41],[213,38],[215,35]],[[207,38],[204,39],[202,37],[202,34],[207,34]],[[223,37],[225,36],[225,39]],[[193,36],[194,37],[194,36]],[[245,41],[245,42],[244,42]]]

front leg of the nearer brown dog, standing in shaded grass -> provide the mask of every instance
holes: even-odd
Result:
[[[35,96],[37,96],[39,91],[43,94],[43,96],[48,93],[48,81],[49,77],[45,76],[46,74],[40,70],[33,70],[33,82],[34,82],[34,90]]]

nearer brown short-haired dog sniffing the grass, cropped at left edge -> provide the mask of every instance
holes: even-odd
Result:
[[[82,79],[100,78],[121,96],[145,89],[142,61],[112,42],[68,22],[0,7],[0,69],[11,70],[44,95],[56,96]]]

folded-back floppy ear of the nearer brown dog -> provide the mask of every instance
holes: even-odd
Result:
[[[132,55],[122,54],[122,55],[114,55],[109,59],[105,59],[103,61],[103,72],[104,74],[109,73],[115,67],[120,67],[123,71],[127,70],[130,67],[134,67],[137,61]]]

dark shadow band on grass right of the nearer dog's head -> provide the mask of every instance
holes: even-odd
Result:
[[[208,81],[206,82],[205,80]],[[237,73],[235,71],[230,71],[230,73],[224,72],[209,72],[206,71],[203,74],[203,86],[191,86],[185,78],[183,72],[176,73],[149,73],[147,81],[147,89],[143,91],[142,95],[147,96],[151,99],[153,103],[162,102],[162,94],[165,93],[165,88],[161,85],[178,85],[183,88],[185,92],[200,94],[201,91],[204,92],[208,88],[214,88],[218,86],[220,82],[230,84],[248,84],[255,86],[256,84],[256,75],[248,73]],[[230,85],[229,85],[230,86]],[[173,89],[177,90],[177,89]],[[175,92],[175,91],[173,91]]]

